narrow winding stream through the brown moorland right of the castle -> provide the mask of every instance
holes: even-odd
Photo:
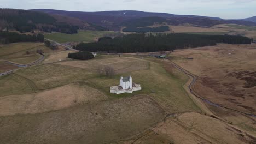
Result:
[[[200,95],[196,94],[196,93],[193,91],[193,86],[194,86],[194,84],[195,84],[195,82],[196,82],[196,80],[197,80],[197,76],[191,74],[189,71],[183,69],[182,67],[180,67],[180,66],[177,65],[176,63],[174,63],[174,62],[172,62],[172,61],[170,61],[170,62],[174,65],[174,67],[176,67],[177,69],[179,69],[180,71],[182,71],[184,74],[188,75],[189,77],[192,77],[192,81],[189,83],[188,88],[189,88],[190,93],[193,94],[193,95],[195,95],[195,97],[201,99],[203,102],[205,102],[205,103],[207,103],[207,104],[210,104],[210,105],[212,105],[212,106],[222,107],[222,108],[224,108],[224,109],[228,109],[228,110],[231,110],[231,111],[234,111],[234,112],[238,112],[238,113],[241,113],[241,114],[243,114],[243,115],[247,115],[247,116],[251,116],[251,117],[256,117],[256,115],[253,115],[253,114],[251,114],[251,113],[245,113],[245,112],[237,111],[237,110],[231,109],[231,108],[229,108],[229,107],[222,106],[222,105],[219,105],[219,104],[217,104],[217,103],[213,103],[212,101],[207,100],[207,99],[201,97]]]

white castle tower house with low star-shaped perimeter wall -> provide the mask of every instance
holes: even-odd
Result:
[[[140,91],[140,90],[141,90],[141,85],[132,83],[131,76],[127,76],[127,77],[121,76],[119,86],[110,87],[110,93],[116,93],[116,94],[132,93],[134,91]]]

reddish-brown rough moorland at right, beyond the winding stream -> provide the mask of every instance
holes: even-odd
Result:
[[[199,77],[194,86],[197,94],[213,103],[255,115],[254,93],[256,91],[253,85],[249,85],[249,81],[255,79],[253,75],[256,71],[255,53],[255,45],[220,44],[179,50],[172,53],[171,57],[178,65]],[[194,59],[189,60],[187,57]],[[219,117],[227,119],[242,129],[251,128],[251,133],[256,133],[253,130],[255,125],[251,118],[217,107],[211,107],[211,109]]]

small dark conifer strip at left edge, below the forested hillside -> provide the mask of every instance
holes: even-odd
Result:
[[[17,43],[17,42],[43,42],[44,35],[27,35],[27,34],[19,34],[15,32],[8,31],[0,31],[0,43],[8,44],[8,43]]]

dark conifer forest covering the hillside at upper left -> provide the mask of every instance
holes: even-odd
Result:
[[[15,29],[19,32],[31,32],[39,29],[44,32],[77,33],[78,26],[69,25],[57,20],[49,14],[19,9],[0,9],[0,30]]]

